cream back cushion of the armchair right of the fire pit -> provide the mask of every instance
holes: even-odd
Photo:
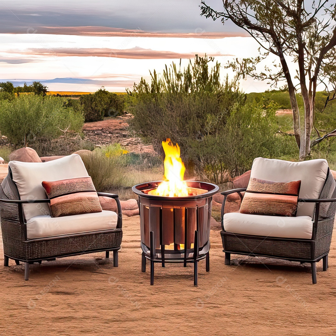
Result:
[[[327,172],[328,162],[324,159],[291,162],[256,158],[251,168],[251,178],[274,182],[301,180],[299,198],[319,198]],[[299,202],[296,215],[313,217],[314,207],[315,203]]]

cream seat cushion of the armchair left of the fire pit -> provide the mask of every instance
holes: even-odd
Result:
[[[114,229],[117,226],[117,220],[118,215],[107,210],[62,217],[35,216],[27,220],[27,238],[44,238]]]

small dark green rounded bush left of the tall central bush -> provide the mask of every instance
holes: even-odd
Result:
[[[93,94],[79,98],[85,122],[103,120],[103,117],[116,117],[123,113],[124,100],[121,95],[99,89]]]

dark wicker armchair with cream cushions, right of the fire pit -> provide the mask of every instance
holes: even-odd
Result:
[[[329,171],[327,161],[310,160],[294,163],[257,158],[252,165],[252,177],[277,182],[301,180],[297,217],[263,216],[261,218],[252,214],[225,214],[227,196],[238,193],[243,200],[247,188],[221,193],[224,199],[220,234],[223,252],[225,252],[225,265],[230,264],[231,253],[308,262],[311,264],[312,283],[316,284],[316,262],[322,259],[323,270],[326,271],[328,268],[328,253],[336,209],[335,180]],[[245,221],[244,224],[241,217]],[[291,233],[291,230],[293,231],[291,225],[296,225],[300,218],[304,218],[308,226],[310,222],[310,226],[307,228],[306,225],[304,228],[307,232],[298,234],[299,226],[297,226],[296,233]],[[239,221],[241,221],[240,224]],[[253,230],[257,232],[253,234]],[[261,235],[260,232],[264,234]]]

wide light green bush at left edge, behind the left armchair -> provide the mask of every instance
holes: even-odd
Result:
[[[51,140],[63,132],[80,132],[84,118],[55,97],[20,95],[0,101],[2,134],[15,145]]]

